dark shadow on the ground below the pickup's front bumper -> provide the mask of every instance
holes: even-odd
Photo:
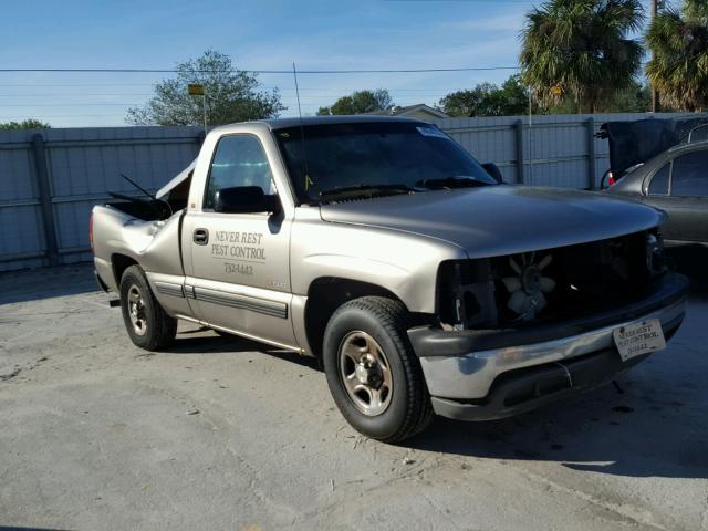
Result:
[[[708,478],[708,433],[699,409],[679,400],[618,394],[608,386],[508,419],[436,418],[404,446],[477,458],[556,461],[615,476]]]

